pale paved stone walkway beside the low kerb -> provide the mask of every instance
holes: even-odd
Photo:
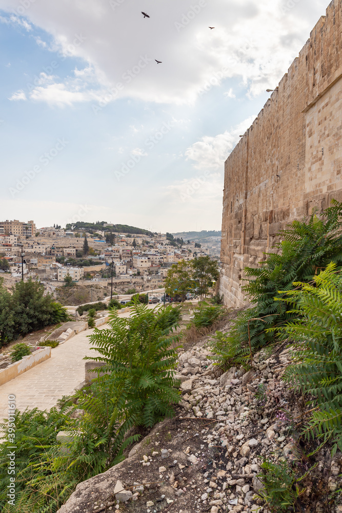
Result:
[[[99,329],[104,329],[104,324]],[[9,394],[16,397],[16,407],[50,409],[58,399],[70,394],[85,379],[85,356],[94,356],[88,335],[92,329],[78,333],[51,350],[51,358],[39,363],[21,376],[0,386],[0,419],[7,417]]]

